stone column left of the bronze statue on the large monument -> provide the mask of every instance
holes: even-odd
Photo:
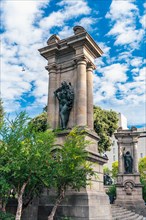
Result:
[[[56,65],[47,66],[46,69],[49,71],[49,95],[48,95],[48,124],[52,129],[55,128],[55,96],[54,91],[56,90]]]

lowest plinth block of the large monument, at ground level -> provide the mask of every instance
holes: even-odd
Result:
[[[44,201],[41,199],[38,220],[47,220],[52,207],[53,204],[47,204],[46,201],[44,206]],[[61,220],[64,217],[72,220],[111,220],[108,196],[104,192],[68,192],[57,208],[55,220]]]

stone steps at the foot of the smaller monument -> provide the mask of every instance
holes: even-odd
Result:
[[[116,205],[112,205],[111,208],[113,220],[146,220],[146,217],[131,212],[125,208]]]

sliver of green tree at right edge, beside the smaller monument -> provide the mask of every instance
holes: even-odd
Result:
[[[146,202],[146,157],[140,159],[138,167],[140,172],[140,181],[143,185],[143,199]]]

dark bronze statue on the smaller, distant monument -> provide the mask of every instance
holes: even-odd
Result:
[[[124,157],[125,173],[132,173],[132,169],[133,169],[133,158],[132,158],[130,152],[127,151],[126,153],[123,153],[123,157]]]

